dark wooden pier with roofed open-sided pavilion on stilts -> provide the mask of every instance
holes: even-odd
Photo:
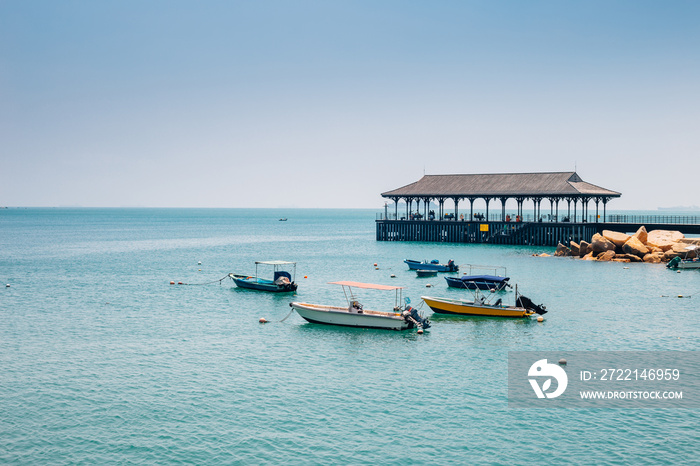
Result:
[[[608,201],[620,195],[581,180],[575,172],[426,175],[415,183],[382,193],[395,205],[394,212],[386,204],[384,213],[378,214],[377,241],[556,246],[590,241],[603,230],[633,233],[641,225],[647,230],[700,234],[698,217],[608,217]],[[477,199],[484,201],[485,213],[474,213]],[[501,201],[501,211],[489,213],[489,204],[495,199]],[[509,199],[517,203],[513,217],[506,213]],[[447,200],[454,206],[449,213],[445,210]],[[468,214],[459,211],[463,200],[470,202]],[[543,200],[549,201],[549,213],[542,213]],[[406,204],[405,215],[399,213],[400,201]],[[524,212],[525,201],[532,202],[531,213]],[[431,202],[437,204],[437,213],[429,209]],[[561,202],[566,202],[566,215],[559,213]],[[591,202],[595,204],[595,214],[589,211]]]

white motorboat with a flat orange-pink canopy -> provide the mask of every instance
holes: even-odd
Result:
[[[401,302],[403,288],[400,286],[373,285],[351,281],[330,282],[330,285],[340,285],[347,301],[346,307],[329,306],[326,304],[309,304],[293,302],[289,305],[308,322],[326,325],[342,325],[345,327],[378,328],[388,330],[406,330],[418,328],[419,333],[430,327],[430,320],[421,316],[418,311],[408,305],[410,299]],[[365,309],[355,298],[353,288],[365,290],[395,291],[395,305],[390,312]]]

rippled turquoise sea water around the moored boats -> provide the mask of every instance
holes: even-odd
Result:
[[[700,350],[700,271],[376,242],[374,215],[3,209],[0,463],[697,464],[697,410],[511,409],[507,357]],[[334,280],[462,295],[406,258],[505,266],[550,312],[423,335],[279,322],[293,299],[344,304]],[[265,259],[298,262],[296,296],[217,281]]]

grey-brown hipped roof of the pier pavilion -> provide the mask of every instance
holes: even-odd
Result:
[[[382,197],[620,197],[583,181],[576,172],[424,175]]]

